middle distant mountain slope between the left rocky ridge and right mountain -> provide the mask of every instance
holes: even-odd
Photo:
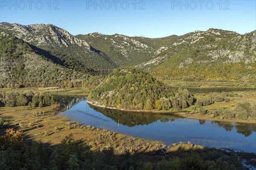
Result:
[[[78,39],[87,41],[93,48],[104,52],[116,65],[135,66],[148,61],[154,55],[154,48],[138,41],[141,37],[128,37],[120,34],[104,35],[92,33],[76,35]]]

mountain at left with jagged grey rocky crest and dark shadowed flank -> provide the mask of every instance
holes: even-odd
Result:
[[[78,71],[84,68],[106,70],[116,65],[105,54],[92,48],[87,42],[79,40],[64,29],[51,24],[20,24],[0,23],[0,31],[18,37],[36,47],[50,51],[65,65]]]

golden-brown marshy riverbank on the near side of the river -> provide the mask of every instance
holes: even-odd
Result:
[[[60,105],[55,104],[43,108],[13,107],[0,108],[0,118],[8,125],[0,128],[3,134],[7,128],[21,129],[27,139],[35,142],[47,143],[52,146],[59,144],[65,136],[73,134],[75,140],[83,139],[86,144],[92,146],[92,150],[103,150],[113,147],[116,155],[125,153],[140,154],[143,161],[160,161],[163,156],[166,158],[178,156],[186,158],[188,155],[198,154],[200,156],[220,154],[240,154],[245,161],[251,162],[254,153],[236,153],[229,151],[208,148],[191,143],[173,144],[166,146],[163,142],[128,136],[98,127],[84,126],[77,122],[70,122],[65,116],[60,116],[58,111]],[[38,116],[35,113],[43,113]],[[253,166],[256,166],[253,164]]]

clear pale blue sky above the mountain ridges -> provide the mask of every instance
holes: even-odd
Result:
[[[0,22],[50,23],[71,34],[166,37],[209,28],[256,30],[256,0],[0,0]]]

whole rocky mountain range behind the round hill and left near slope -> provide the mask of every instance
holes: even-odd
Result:
[[[78,72],[135,66],[160,79],[256,79],[256,31],[241,35],[210,28],[163,38],[100,33],[73,36],[51,24],[0,23],[0,32],[29,43],[44,57]]]

